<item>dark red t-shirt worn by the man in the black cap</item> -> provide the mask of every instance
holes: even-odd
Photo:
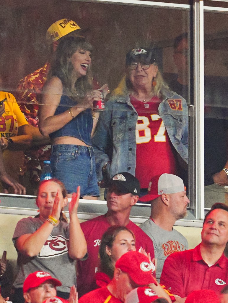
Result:
[[[102,235],[110,226],[105,215],[81,223],[81,228],[87,242],[88,258],[85,261],[77,261],[77,291],[79,298],[97,287],[95,273],[98,272],[100,266],[98,256],[99,246],[101,245]],[[150,252],[151,259],[153,259],[153,241],[132,221],[126,227],[135,234],[136,250],[139,250],[140,246],[142,246],[147,253]],[[153,275],[155,277],[155,273]]]

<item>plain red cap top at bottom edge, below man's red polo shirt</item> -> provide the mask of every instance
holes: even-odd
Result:
[[[214,290],[195,290],[188,295],[185,303],[219,303],[220,300]]]

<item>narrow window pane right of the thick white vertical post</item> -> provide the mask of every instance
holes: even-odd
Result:
[[[228,185],[223,171],[228,164],[228,12],[204,13],[204,48],[205,207],[210,208],[225,202]]]

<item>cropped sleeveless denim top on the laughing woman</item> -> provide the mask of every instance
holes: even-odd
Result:
[[[66,95],[62,95],[59,105],[56,108],[54,115],[59,115],[65,112],[68,108],[76,105],[77,103],[70,99]],[[69,114],[70,115],[70,114]],[[49,135],[51,139],[69,136],[74,137],[87,145],[91,145],[91,132],[93,128],[93,116],[92,110],[87,108],[75,118],[73,118],[70,122],[64,125],[62,128],[53,132]]]

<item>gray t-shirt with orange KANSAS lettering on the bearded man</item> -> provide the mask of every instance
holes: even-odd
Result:
[[[165,259],[173,252],[188,249],[188,241],[174,228],[172,231],[166,231],[151,219],[142,223],[140,228],[153,240],[154,256],[157,259],[156,278],[160,281]]]

